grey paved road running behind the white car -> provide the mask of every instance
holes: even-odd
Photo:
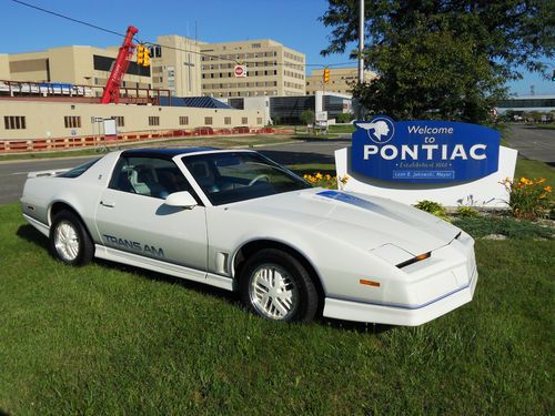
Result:
[[[333,152],[350,145],[349,140],[299,142],[256,148],[282,164],[334,163]],[[19,201],[29,172],[73,168],[97,156],[0,162],[0,204]]]

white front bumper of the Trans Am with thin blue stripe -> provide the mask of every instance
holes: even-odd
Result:
[[[383,291],[373,290],[379,296],[327,296],[323,315],[407,326],[435,319],[471,302],[474,296],[478,280],[474,241],[463,233],[446,246],[433,251],[430,258],[403,271],[402,278],[384,280]]]

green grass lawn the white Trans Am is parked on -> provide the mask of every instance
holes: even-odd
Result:
[[[16,204],[0,235],[0,414],[555,410],[553,241],[477,241],[474,301],[410,328],[280,325],[209,286],[64,266]]]

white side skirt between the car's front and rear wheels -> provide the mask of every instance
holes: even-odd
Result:
[[[226,291],[233,291],[233,278],[220,276],[213,273],[199,272],[194,268],[161,262],[160,260],[144,257],[138,254],[123,252],[121,250],[107,247],[100,244],[94,244],[94,256],[115,263],[129,264],[130,266],[147,268],[153,272],[186,278],[188,281],[205,283],[211,286],[224,288]]]

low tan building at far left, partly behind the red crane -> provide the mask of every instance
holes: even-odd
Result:
[[[102,94],[118,48],[62,47],[40,52],[8,55],[9,80],[29,82],[68,82],[95,88]],[[123,85],[125,88],[152,88],[150,68],[130,62]]]

